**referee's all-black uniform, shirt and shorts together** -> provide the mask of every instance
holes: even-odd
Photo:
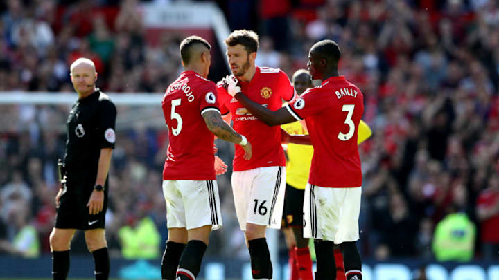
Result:
[[[76,101],[67,119],[64,164],[66,191],[60,197],[55,227],[78,230],[104,228],[107,209],[107,178],[103,211],[89,214],[87,203],[96,183],[100,149],[114,149],[116,106],[99,89]]]

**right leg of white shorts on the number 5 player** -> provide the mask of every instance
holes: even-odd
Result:
[[[182,180],[180,192],[185,207],[186,229],[211,225],[212,230],[222,227],[220,196],[216,180]]]

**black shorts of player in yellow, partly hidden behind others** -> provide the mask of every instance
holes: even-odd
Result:
[[[303,227],[304,189],[296,189],[286,184],[284,209],[281,225],[283,227]]]

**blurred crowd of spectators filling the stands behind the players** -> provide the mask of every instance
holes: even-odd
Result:
[[[499,1],[227,0],[218,5],[231,29],[259,32],[259,66],[292,75],[306,66],[315,41],[333,39],[340,45],[340,74],[364,93],[363,120],[374,131],[359,148],[364,256],[445,260],[448,256],[439,254],[448,249],[439,243],[444,239],[466,251],[450,259],[499,258]],[[0,91],[72,91],[69,64],[84,56],[96,63],[103,91],[164,92],[182,71],[178,44],[184,35],[165,32],[157,46],[150,46],[140,6],[137,0],[0,4]],[[210,77],[222,72],[212,69]],[[38,251],[49,252],[55,162],[65,141],[64,127],[54,124],[64,124],[69,108],[0,108],[7,120],[0,130],[0,251],[33,256],[26,248],[38,242]],[[107,214],[115,256],[126,255],[125,246],[137,246],[128,244],[127,236],[141,234],[141,225],[154,239],[151,248],[158,248],[148,256],[161,252],[167,232],[161,194],[167,144],[164,129],[137,125],[118,131]],[[233,147],[220,141],[218,149],[230,164]],[[207,254],[244,257],[229,176],[219,178],[224,227],[212,234]],[[453,221],[459,221],[455,230],[439,230]],[[73,250],[78,247],[85,248],[73,243]]]

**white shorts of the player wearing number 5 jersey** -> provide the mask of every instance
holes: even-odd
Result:
[[[166,225],[187,230],[211,225],[211,230],[222,227],[220,198],[216,180],[164,180]]]

